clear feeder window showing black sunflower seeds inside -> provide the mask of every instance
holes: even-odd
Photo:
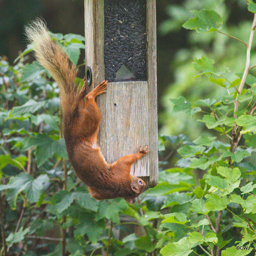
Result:
[[[108,82],[145,81],[145,0],[104,1],[104,64]]]

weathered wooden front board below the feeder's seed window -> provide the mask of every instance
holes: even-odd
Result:
[[[106,94],[107,162],[135,154],[140,146],[149,147],[148,82],[109,83]],[[149,155],[131,168],[135,176],[149,176]]]

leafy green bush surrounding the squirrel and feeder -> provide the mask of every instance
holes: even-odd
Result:
[[[256,4],[248,9],[256,12]],[[185,28],[223,33],[217,12],[193,13]],[[226,94],[171,99],[173,112],[199,117],[208,134],[193,141],[160,136],[159,183],[133,205],[94,200],[74,175],[58,86],[38,62],[24,65],[32,46],[14,67],[1,58],[1,255],[254,255],[256,77],[249,74],[249,53],[255,22],[256,14],[248,44],[232,37],[247,48],[243,74],[216,70],[207,56],[194,59],[198,76]],[[53,36],[77,64],[84,38]]]

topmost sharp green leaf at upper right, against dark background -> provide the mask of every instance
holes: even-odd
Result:
[[[186,29],[196,30],[196,32],[211,32],[220,28],[223,23],[221,16],[213,10],[193,10],[195,18],[185,22],[182,26]]]

